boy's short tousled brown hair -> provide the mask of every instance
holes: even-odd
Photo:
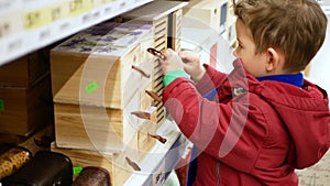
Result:
[[[324,42],[327,17],[315,0],[233,0],[233,10],[256,53],[280,50],[288,73],[304,70]]]

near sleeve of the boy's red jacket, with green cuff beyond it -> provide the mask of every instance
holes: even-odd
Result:
[[[251,128],[252,124],[245,122],[250,112],[248,96],[239,96],[226,103],[209,101],[191,80],[177,78],[164,88],[163,101],[180,131],[198,149],[233,167],[246,172],[251,168],[266,129],[263,124]],[[238,164],[238,158],[246,163]]]

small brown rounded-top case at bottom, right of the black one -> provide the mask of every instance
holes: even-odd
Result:
[[[110,186],[109,172],[102,167],[86,166],[73,186]]]

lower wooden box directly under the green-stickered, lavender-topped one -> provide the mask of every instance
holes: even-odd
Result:
[[[153,121],[154,117],[148,120],[132,114],[139,109],[133,102],[125,110],[55,102],[57,146],[105,152],[130,146],[147,152],[156,142],[148,134],[157,134],[161,124]]]

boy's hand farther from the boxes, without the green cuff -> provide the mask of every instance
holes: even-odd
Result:
[[[200,63],[199,55],[193,51],[180,51],[179,56],[184,62],[184,69],[194,81],[199,81],[206,73],[205,67]]]

